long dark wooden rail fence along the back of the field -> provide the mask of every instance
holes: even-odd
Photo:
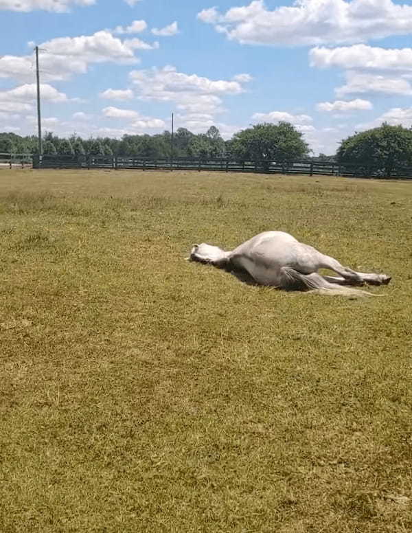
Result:
[[[19,159],[19,157],[20,159]],[[10,154],[9,154],[10,157]],[[220,172],[254,172],[264,174],[307,174],[309,176],[343,176],[376,179],[412,179],[412,167],[378,168],[342,165],[336,161],[241,161],[238,159],[205,159],[198,157],[150,158],[103,155],[12,155],[13,161],[30,159],[33,168],[112,168],[115,170],[209,170]],[[11,161],[11,159],[10,159]],[[1,154],[0,154],[1,162]],[[11,166],[11,163],[10,163]]]

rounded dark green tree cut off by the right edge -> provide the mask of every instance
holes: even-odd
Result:
[[[390,177],[412,164],[412,131],[384,123],[343,139],[337,157],[341,164],[355,166],[365,174]]]

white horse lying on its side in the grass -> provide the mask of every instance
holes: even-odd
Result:
[[[284,231],[264,231],[231,251],[205,243],[193,245],[190,260],[213,264],[233,273],[247,273],[256,284],[286,291],[369,295],[345,285],[387,285],[391,281],[385,274],[367,274],[343,267],[336,259],[304,245]],[[339,277],[320,275],[319,269],[330,269]]]

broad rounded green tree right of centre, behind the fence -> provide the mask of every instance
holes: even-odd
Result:
[[[233,135],[231,152],[238,159],[288,162],[309,153],[303,134],[288,122],[256,124]]]

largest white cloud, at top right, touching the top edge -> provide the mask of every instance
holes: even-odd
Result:
[[[412,32],[412,6],[392,0],[296,0],[273,10],[253,0],[224,14],[203,10],[198,19],[234,41],[255,45],[361,43]]]

